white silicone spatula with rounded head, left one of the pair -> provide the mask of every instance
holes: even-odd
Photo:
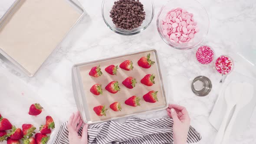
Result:
[[[239,101],[241,95],[242,95],[241,84],[238,82],[231,82],[226,88],[225,95],[224,95],[226,105],[227,105],[226,114],[223,118],[219,131],[216,135],[214,144],[221,144],[230,112],[232,108],[236,105],[236,103]]]

